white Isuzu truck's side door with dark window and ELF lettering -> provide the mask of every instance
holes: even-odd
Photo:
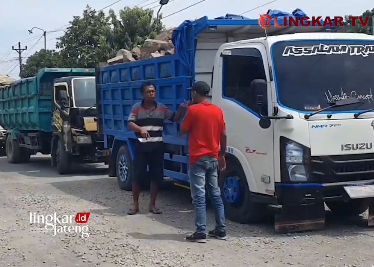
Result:
[[[217,59],[218,60],[218,59]],[[259,125],[252,81],[267,82],[267,109],[271,114],[271,86],[265,46],[261,43],[224,48],[213,78],[212,101],[226,121],[228,153],[238,159],[251,192],[274,194],[273,127]]]

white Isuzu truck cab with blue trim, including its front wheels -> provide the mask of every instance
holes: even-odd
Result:
[[[229,217],[262,219],[267,204],[276,231],[320,229],[326,203],[348,216],[370,206],[374,224],[373,36],[237,41],[219,48],[214,66],[212,102],[223,109],[228,136]]]

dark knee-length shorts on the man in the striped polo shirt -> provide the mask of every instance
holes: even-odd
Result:
[[[135,176],[134,180],[141,182],[147,178],[151,181],[160,183],[164,177],[164,150],[155,149],[153,151],[144,151],[137,147],[135,149],[134,162]],[[149,172],[147,173],[147,166]]]

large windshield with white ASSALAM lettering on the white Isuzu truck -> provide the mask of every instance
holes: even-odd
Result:
[[[316,111],[355,97],[364,104],[331,112],[374,108],[373,41],[283,41],[273,45],[272,59],[281,105]]]

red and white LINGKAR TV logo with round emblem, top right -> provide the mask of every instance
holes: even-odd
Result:
[[[278,17],[272,18],[268,14],[260,15],[260,18],[258,19],[258,25],[263,29],[268,29],[271,26],[270,21],[274,19],[274,27],[309,27],[309,26],[318,26],[318,27],[343,27],[343,21],[344,18],[341,16],[334,16],[331,17],[325,17],[322,19],[322,16],[302,16],[302,17],[286,17],[284,16],[283,19],[279,19]],[[361,16],[349,16],[347,17],[347,20],[350,25],[353,27],[356,25],[357,20],[359,20],[359,23],[365,27],[368,24],[369,17],[361,17]]]

